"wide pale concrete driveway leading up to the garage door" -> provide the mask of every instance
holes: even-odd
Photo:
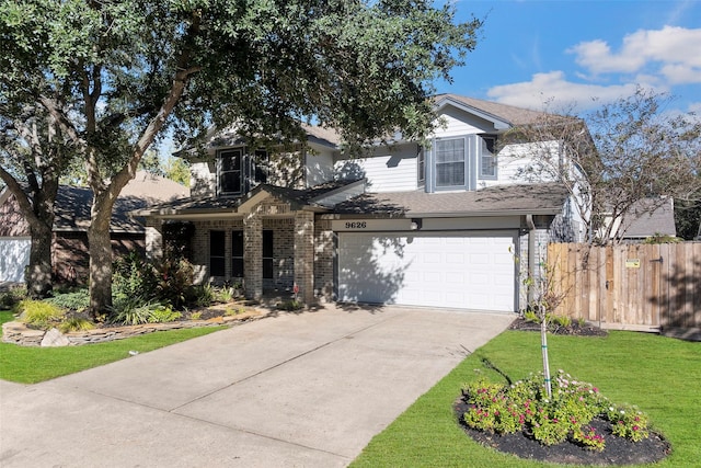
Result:
[[[0,466],[344,467],[513,318],[329,306],[0,380]]]

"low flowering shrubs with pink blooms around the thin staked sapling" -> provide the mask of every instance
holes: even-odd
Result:
[[[616,406],[591,384],[559,370],[548,398],[542,373],[510,386],[480,379],[462,389],[469,404],[463,419],[468,426],[497,434],[524,431],[544,445],[571,440],[602,450],[606,441],[588,424],[595,418],[611,422],[612,433],[640,442],[648,436],[648,420],[631,406]]]

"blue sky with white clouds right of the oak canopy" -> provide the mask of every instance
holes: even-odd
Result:
[[[472,0],[459,21],[485,18],[453,70],[451,92],[521,107],[584,112],[637,84],[668,92],[669,111],[701,115],[701,1]],[[593,101],[596,99],[596,101]]]

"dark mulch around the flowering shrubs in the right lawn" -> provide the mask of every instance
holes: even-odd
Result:
[[[486,447],[513,454],[519,458],[568,465],[643,465],[659,461],[671,452],[669,443],[659,434],[651,432],[650,437],[641,442],[631,442],[612,435],[611,423],[600,419],[595,419],[589,425],[606,438],[606,448],[602,452],[591,450],[571,442],[547,446],[525,432],[490,434],[468,427],[462,419],[468,408],[462,397],[453,406],[460,426],[470,437]]]

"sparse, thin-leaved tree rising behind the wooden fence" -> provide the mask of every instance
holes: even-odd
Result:
[[[671,99],[639,88],[581,117],[543,113],[538,125],[517,129],[540,141],[520,174],[563,182],[597,243],[620,241],[628,225],[616,221],[654,212],[665,196],[699,202],[701,122],[668,112]]]

